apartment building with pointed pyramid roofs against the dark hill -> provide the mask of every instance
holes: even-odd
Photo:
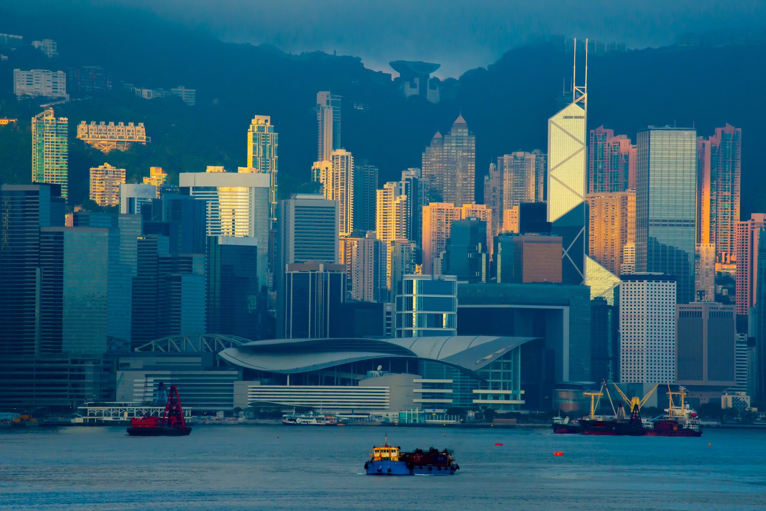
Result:
[[[476,137],[463,116],[458,116],[450,133],[437,132],[423,152],[423,179],[428,182],[429,200],[457,206],[474,198]]]

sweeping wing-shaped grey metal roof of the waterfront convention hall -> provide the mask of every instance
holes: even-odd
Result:
[[[403,339],[275,339],[224,349],[218,356],[257,371],[293,374],[385,357],[440,362],[478,378],[476,371],[537,337],[451,336]]]

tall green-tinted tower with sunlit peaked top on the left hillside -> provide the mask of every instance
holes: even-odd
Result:
[[[32,182],[61,186],[61,197],[69,190],[69,120],[56,117],[52,108],[32,117]]]

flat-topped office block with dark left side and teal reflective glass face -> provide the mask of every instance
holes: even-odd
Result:
[[[40,228],[38,353],[107,352],[109,229]]]

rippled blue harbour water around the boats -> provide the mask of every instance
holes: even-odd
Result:
[[[364,475],[385,433],[404,450],[453,449],[460,470]],[[5,427],[0,509],[761,510],[766,431],[666,438],[275,425],[129,437],[124,427]]]

